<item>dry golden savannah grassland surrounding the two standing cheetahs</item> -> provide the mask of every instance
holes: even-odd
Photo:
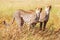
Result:
[[[10,23],[17,9],[35,10],[36,7],[52,5],[49,21],[45,31],[39,31],[39,23],[28,31],[25,24],[22,33],[16,22],[5,26],[3,21]],[[32,29],[31,29],[32,30]],[[60,39],[60,0],[0,0],[0,40],[59,40]]]

